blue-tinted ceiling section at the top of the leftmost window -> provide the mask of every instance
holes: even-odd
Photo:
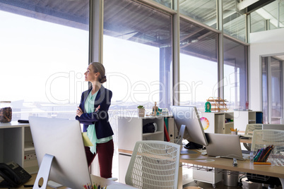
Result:
[[[0,10],[88,30],[89,0],[0,0]]]

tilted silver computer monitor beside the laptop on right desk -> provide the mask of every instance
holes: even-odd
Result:
[[[196,106],[170,106],[170,109],[177,128],[180,129],[182,125],[186,126],[184,139],[189,140],[190,149],[200,148],[199,145],[208,145]]]

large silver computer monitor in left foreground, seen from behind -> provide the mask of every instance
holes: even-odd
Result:
[[[37,178],[43,178],[42,187],[47,180],[69,188],[83,188],[83,185],[92,184],[78,121],[29,117],[29,122],[40,166]]]

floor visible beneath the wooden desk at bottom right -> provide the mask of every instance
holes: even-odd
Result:
[[[188,183],[187,185],[184,185],[183,188],[185,189],[187,186],[199,186],[203,189],[210,189],[213,188],[213,185],[211,183],[201,183],[199,181],[197,181],[197,183],[195,183],[194,181],[191,183]],[[266,186],[266,188],[268,188],[268,185],[264,185]],[[252,183],[247,181],[247,178],[243,178],[242,179],[242,187],[241,186],[227,186],[223,184],[223,181],[220,181],[219,183],[215,184],[215,188],[218,189],[240,189],[240,188],[244,188],[244,189],[262,189],[262,184],[261,183]],[[276,186],[275,189],[282,189],[282,186]]]

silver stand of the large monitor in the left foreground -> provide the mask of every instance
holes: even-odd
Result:
[[[42,158],[42,163],[40,164],[40,169],[38,170],[37,178],[35,178],[35,183],[32,189],[47,188],[47,181],[50,169],[52,168],[53,158],[54,156],[49,154],[45,154],[45,156]],[[41,179],[43,180],[42,186],[39,185]]]

